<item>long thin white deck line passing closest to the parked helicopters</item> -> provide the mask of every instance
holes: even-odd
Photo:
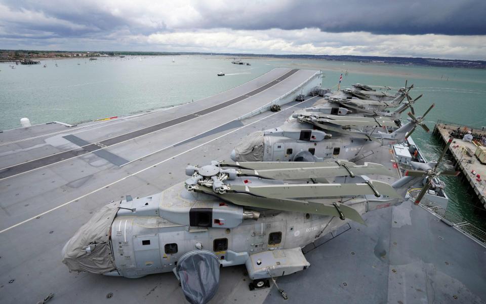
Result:
[[[100,190],[102,190],[102,189],[104,189],[104,188],[106,188],[106,187],[108,187],[108,186],[114,185],[114,184],[116,184],[116,183],[118,183],[118,182],[120,182],[120,181],[123,181],[123,180],[125,180],[125,179],[127,179],[127,178],[129,178],[129,177],[135,176],[135,175],[137,175],[137,174],[139,174],[139,173],[142,173],[142,172],[144,172],[144,171],[146,171],[146,170],[148,170],[148,169],[154,168],[154,166],[158,166],[158,165],[163,164],[163,163],[165,163],[165,162],[167,162],[167,161],[170,161],[170,160],[172,160],[172,159],[174,159],[174,158],[176,158],[176,157],[179,157],[179,156],[181,156],[181,155],[183,155],[183,154],[186,154],[187,152],[189,152],[189,151],[191,151],[191,150],[193,150],[193,149],[197,149],[197,148],[199,148],[199,147],[201,147],[201,146],[204,146],[204,145],[206,145],[206,144],[208,144],[208,143],[210,143],[210,142],[213,142],[213,141],[215,141],[215,140],[218,140],[218,139],[220,139],[220,138],[222,138],[222,137],[224,137],[224,136],[226,136],[226,135],[228,135],[228,134],[234,133],[234,132],[236,132],[236,131],[238,131],[238,130],[241,130],[241,129],[243,129],[243,128],[246,128],[246,127],[248,127],[248,126],[251,126],[251,125],[253,125],[253,124],[256,124],[256,123],[258,123],[258,122],[260,122],[260,121],[262,121],[262,120],[264,120],[264,119],[267,119],[267,118],[269,118],[269,117],[271,117],[271,116],[274,116],[275,114],[278,114],[278,113],[284,112],[284,111],[286,111],[286,110],[288,110],[288,109],[290,109],[290,108],[295,107],[295,106],[296,106],[296,105],[298,105],[298,104],[300,104],[300,103],[297,103],[297,104],[291,105],[291,106],[289,106],[289,107],[287,107],[287,108],[285,108],[285,109],[282,109],[282,110],[281,110],[281,111],[279,111],[279,112],[274,112],[274,113],[271,113],[270,115],[267,115],[267,116],[265,116],[265,117],[263,117],[263,118],[261,118],[261,119],[259,119],[259,120],[257,120],[257,121],[251,122],[251,123],[249,123],[248,125],[245,125],[245,126],[239,127],[239,128],[237,128],[237,129],[235,129],[235,130],[232,130],[232,131],[229,131],[229,132],[227,132],[227,133],[225,133],[225,134],[223,134],[223,135],[220,135],[220,136],[218,136],[218,137],[216,137],[216,138],[213,138],[213,139],[211,139],[211,140],[209,140],[209,141],[207,141],[207,142],[201,143],[201,144],[199,144],[199,145],[197,145],[197,146],[195,146],[195,147],[191,147],[191,148],[189,148],[189,149],[187,149],[187,150],[185,150],[185,151],[182,151],[181,153],[176,154],[176,155],[174,155],[174,156],[171,156],[171,157],[169,157],[169,158],[167,158],[167,159],[165,159],[165,160],[163,160],[163,161],[160,161],[160,162],[158,162],[158,163],[152,164],[152,165],[150,165],[150,166],[148,166],[148,167],[146,167],[146,168],[144,168],[144,169],[141,169],[141,170],[139,170],[139,171],[137,171],[137,172],[135,172],[135,173],[132,173],[132,174],[127,175],[127,176],[125,176],[125,177],[123,177],[123,178],[120,178],[120,179],[118,179],[118,180],[115,180],[115,181],[113,181],[113,182],[111,182],[111,183],[109,183],[109,184],[106,184],[106,185],[104,185],[104,186],[102,186],[102,187],[99,187],[98,189],[95,189],[95,190],[93,190],[92,192],[89,192],[89,193],[84,194],[84,195],[82,195],[82,196],[80,196],[80,197],[77,197],[77,198],[75,198],[75,199],[73,199],[73,200],[70,200],[70,201],[68,201],[68,202],[66,202],[66,203],[64,203],[64,204],[61,204],[61,205],[56,206],[56,207],[54,207],[54,208],[52,208],[52,209],[49,209],[49,210],[47,210],[47,211],[44,211],[44,212],[39,213],[39,214],[37,214],[37,215],[34,215],[34,216],[32,216],[32,217],[30,217],[30,218],[28,218],[28,219],[26,219],[26,220],[23,220],[23,221],[18,222],[18,223],[14,224],[14,225],[12,225],[12,226],[10,226],[10,227],[5,228],[4,230],[1,230],[1,231],[0,231],[0,234],[2,234],[2,233],[4,233],[4,232],[7,232],[7,231],[9,231],[9,230],[11,230],[11,229],[13,229],[13,228],[15,228],[15,227],[17,227],[17,226],[22,225],[22,224],[25,224],[26,222],[29,222],[29,221],[31,221],[31,220],[33,220],[33,219],[36,219],[37,217],[41,217],[41,216],[43,216],[43,215],[46,215],[46,214],[48,214],[48,213],[51,213],[51,212],[52,212],[52,211],[54,211],[54,210],[57,210],[57,209],[62,208],[62,207],[64,207],[64,206],[67,206],[67,205],[69,205],[69,204],[71,204],[71,203],[73,203],[73,202],[76,202],[76,201],[80,200],[80,199],[86,198],[87,196],[90,196],[90,195],[92,195],[92,194],[94,194],[94,193],[97,193],[98,191],[100,191]]]

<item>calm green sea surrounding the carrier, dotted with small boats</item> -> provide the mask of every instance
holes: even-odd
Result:
[[[175,62],[172,62],[172,60]],[[248,82],[274,67],[320,69],[323,87],[353,83],[402,87],[415,85],[412,96],[424,94],[417,115],[432,103],[426,121],[437,120],[480,128],[486,126],[486,70],[352,63],[321,60],[244,59],[251,66],[231,64],[220,56],[156,56],[43,60],[39,65],[0,64],[0,130],[51,121],[74,123],[201,99]],[[55,64],[58,64],[56,67]],[[47,67],[43,67],[47,64]],[[218,77],[218,72],[226,73]],[[418,128],[414,140],[429,160],[440,153],[438,141]],[[448,164],[446,164],[448,166]],[[449,166],[451,166],[449,164]],[[449,209],[486,229],[486,212],[457,179],[444,178]]]

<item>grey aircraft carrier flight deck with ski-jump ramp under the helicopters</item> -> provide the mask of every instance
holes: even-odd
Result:
[[[321,97],[294,101],[320,72],[277,68],[231,90],[137,115],[0,133],[0,302],[183,303],[172,273],[139,279],[69,273],[61,249],[94,212],[185,179],[187,165],[230,161],[241,138],[280,125]],[[271,112],[270,104],[281,110]],[[392,149],[375,162],[400,177]],[[363,216],[306,248],[311,266],[250,291],[245,266],[223,268],[211,303],[483,303],[486,248],[411,201]],[[427,246],[424,246],[427,244]]]

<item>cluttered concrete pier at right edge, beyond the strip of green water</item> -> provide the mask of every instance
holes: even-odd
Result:
[[[468,132],[473,135],[471,142],[463,140]],[[433,134],[445,145],[453,136],[454,141],[449,147],[452,161],[457,170],[461,171],[461,179],[468,184],[469,189],[477,197],[481,206],[486,208],[486,164],[482,164],[475,156],[478,146],[484,146],[486,130],[453,123],[438,121]]]

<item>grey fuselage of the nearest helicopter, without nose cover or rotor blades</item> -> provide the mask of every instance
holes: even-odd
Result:
[[[180,188],[185,191],[182,186]],[[177,224],[162,217],[167,214],[168,208],[178,208],[174,205],[164,207],[164,194],[139,199],[148,203],[143,203],[144,208],[158,209],[156,213],[159,215],[137,216],[131,215],[132,212],[127,209],[118,211],[110,229],[116,270],[105,275],[139,278],[171,272],[179,257],[196,249],[214,252],[223,267],[245,264],[252,254],[259,252],[303,248],[350,221],[334,216],[278,210],[259,210],[256,220],[242,219],[242,207],[213,196],[194,194],[191,199],[191,194],[186,192],[179,198],[184,208],[189,210],[181,214],[189,218],[177,220],[189,220],[190,225]],[[360,197],[348,200],[346,205],[364,214],[401,201],[386,197]],[[133,202],[121,202],[120,207],[131,209]],[[222,215],[218,214],[224,209],[235,211],[227,214],[241,213],[236,223],[230,220],[230,215],[219,218]]]

